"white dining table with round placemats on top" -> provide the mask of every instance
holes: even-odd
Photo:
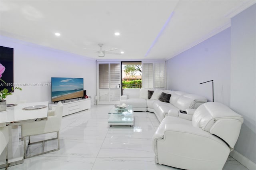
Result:
[[[41,108],[42,107],[42,108]],[[18,125],[34,121],[46,121],[49,102],[18,103],[0,112],[0,127],[9,127],[8,162],[10,166],[23,163],[24,146]],[[40,109],[38,109],[40,108]],[[15,126],[16,125],[16,126]],[[0,168],[5,155],[0,156]]]

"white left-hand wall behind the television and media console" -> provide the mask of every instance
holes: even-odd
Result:
[[[1,36],[0,45],[14,48],[14,83],[22,91],[16,90],[6,98],[7,103],[22,101],[50,101],[51,86],[24,86],[24,84],[51,83],[51,77],[84,78],[84,89],[92,97],[96,96],[96,61],[75,55],[22,42]]]

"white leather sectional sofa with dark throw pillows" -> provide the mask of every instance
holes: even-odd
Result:
[[[154,91],[151,97],[148,96],[150,91]],[[124,89],[121,96],[121,103],[132,105],[134,111],[153,112],[159,122],[166,116],[192,120],[195,109],[206,102],[202,96],[160,89]]]

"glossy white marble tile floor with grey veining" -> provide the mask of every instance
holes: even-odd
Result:
[[[108,125],[113,105],[91,109],[62,118],[60,150],[27,158],[8,170],[178,170],[154,162],[151,137],[159,122],[154,113],[134,112],[134,126]],[[31,140],[56,134],[34,136]],[[57,147],[57,140],[45,143],[45,150]],[[28,154],[42,151],[42,144],[28,148]],[[1,169],[2,170],[2,169]],[[223,170],[248,170],[232,157]]]

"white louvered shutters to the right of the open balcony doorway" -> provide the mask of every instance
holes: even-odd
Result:
[[[145,89],[166,89],[166,62],[142,62],[142,87]]]

